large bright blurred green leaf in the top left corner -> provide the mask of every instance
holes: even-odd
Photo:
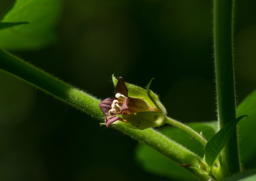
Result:
[[[0,31],[0,46],[11,50],[40,49],[55,42],[60,0],[19,0],[1,22],[30,22]]]

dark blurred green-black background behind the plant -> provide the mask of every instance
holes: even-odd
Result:
[[[236,1],[238,102],[256,88],[255,3]],[[61,7],[53,44],[11,52],[100,99],[114,96],[112,74],[141,87],[155,78],[151,90],[170,117],[216,120],[212,1],[65,0]],[[137,141],[0,77],[0,180],[169,180],[139,167]]]

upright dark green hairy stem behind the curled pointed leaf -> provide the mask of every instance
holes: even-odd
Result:
[[[220,128],[236,119],[233,71],[234,0],[214,0],[214,55]],[[240,171],[236,131],[222,151],[223,174]]]

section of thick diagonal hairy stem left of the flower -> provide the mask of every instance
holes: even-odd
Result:
[[[99,99],[47,74],[42,69],[12,56],[2,49],[0,49],[0,70],[17,76],[98,119],[102,119],[105,116],[98,107]]]

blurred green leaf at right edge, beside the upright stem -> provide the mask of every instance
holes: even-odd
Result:
[[[248,115],[248,121],[237,124],[241,163],[245,168],[255,167],[256,162],[256,90],[248,95],[237,107],[238,115]],[[251,166],[246,164],[252,163]]]

